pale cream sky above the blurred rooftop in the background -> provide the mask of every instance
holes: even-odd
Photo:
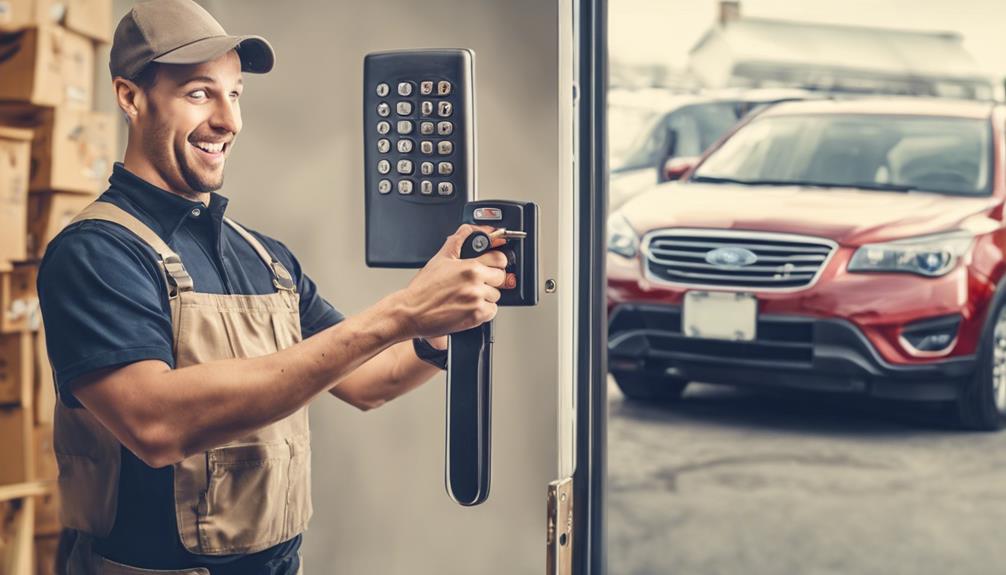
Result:
[[[613,60],[684,67],[718,0],[609,0]],[[741,16],[954,31],[985,71],[1006,76],[1006,0],[740,0]]]

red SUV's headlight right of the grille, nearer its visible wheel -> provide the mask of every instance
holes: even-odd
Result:
[[[971,247],[975,235],[956,230],[861,246],[849,261],[849,271],[902,271],[927,277],[944,275]]]

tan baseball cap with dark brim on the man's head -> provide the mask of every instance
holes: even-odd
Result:
[[[112,77],[136,77],[150,62],[198,64],[235,49],[241,70],[273,69],[273,46],[262,36],[228,36],[216,19],[192,0],[148,0],[133,6],[116,27],[109,69]]]

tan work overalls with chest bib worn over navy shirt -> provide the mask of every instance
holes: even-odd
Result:
[[[159,257],[171,305],[176,368],[263,356],[301,341],[299,295],[284,266],[245,229],[226,219],[273,272],[274,294],[223,296],[195,292],[181,259],[149,227],[108,202],[73,221],[107,220],[147,242]],[[68,575],[203,574],[203,568],[150,571],[104,559],[91,549],[116,519],[120,442],[83,408],[57,402],[55,452],[62,522],[78,537]],[[178,535],[190,553],[247,554],[287,541],[311,517],[308,410],[174,464]]]

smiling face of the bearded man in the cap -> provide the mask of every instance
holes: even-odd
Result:
[[[160,65],[138,122],[144,155],[174,191],[223,186],[223,164],[241,130],[241,89],[233,50],[202,64]]]

